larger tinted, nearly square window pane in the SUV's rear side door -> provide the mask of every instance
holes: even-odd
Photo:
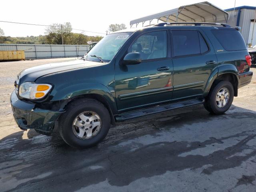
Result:
[[[174,56],[200,54],[200,41],[196,30],[172,30]]]

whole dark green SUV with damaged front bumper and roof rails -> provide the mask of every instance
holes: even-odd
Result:
[[[250,65],[236,27],[159,23],[109,34],[83,60],[20,72],[12,110],[22,130],[50,135],[58,125],[67,144],[85,148],[116,122],[198,104],[223,114],[250,82]]]

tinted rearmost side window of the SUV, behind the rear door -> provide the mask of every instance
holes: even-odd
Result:
[[[212,30],[212,33],[227,51],[247,50],[244,39],[238,30]]]

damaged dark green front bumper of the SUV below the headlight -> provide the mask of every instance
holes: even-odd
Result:
[[[54,124],[64,111],[36,108],[36,104],[19,100],[15,91],[11,95],[12,112],[22,130],[35,129],[40,134],[50,135]]]

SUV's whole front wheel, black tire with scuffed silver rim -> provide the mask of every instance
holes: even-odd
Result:
[[[108,110],[102,103],[92,99],[70,103],[59,120],[60,136],[74,148],[96,145],[106,137],[109,128]]]

